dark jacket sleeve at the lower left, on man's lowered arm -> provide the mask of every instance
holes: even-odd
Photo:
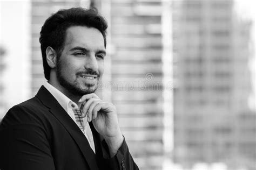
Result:
[[[24,108],[10,109],[0,125],[0,169],[55,169],[43,126]]]

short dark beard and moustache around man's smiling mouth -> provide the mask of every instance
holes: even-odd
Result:
[[[75,96],[83,96],[86,94],[94,93],[97,89],[98,85],[98,79],[99,79],[99,73],[90,70],[84,71],[84,72],[78,72],[76,73],[76,80],[74,83],[69,82],[65,79],[63,76],[63,65],[59,58],[57,58],[57,64],[56,64],[56,76],[57,81],[59,84],[64,87],[69,93],[75,95]],[[97,83],[96,84],[89,84],[85,81],[79,81],[78,77],[82,74],[91,74],[91,75],[97,75]]]

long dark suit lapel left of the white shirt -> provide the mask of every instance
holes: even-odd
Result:
[[[58,121],[69,132],[70,136],[75,140],[76,144],[82,151],[84,158],[88,162],[90,169],[98,169],[96,164],[96,155],[91,150],[88,140],[57,100],[44,86],[39,89],[36,96],[46,107],[49,108],[49,111],[58,119]]]

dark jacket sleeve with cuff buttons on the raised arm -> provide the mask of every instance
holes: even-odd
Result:
[[[100,167],[100,169],[120,169],[120,170],[137,170],[139,169],[132,156],[129,152],[129,148],[124,139],[122,146],[117,151],[114,157],[110,158],[109,147],[105,140],[102,141],[103,148],[103,159],[105,167]],[[106,168],[107,167],[107,168]]]

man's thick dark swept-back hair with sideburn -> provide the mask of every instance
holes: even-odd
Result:
[[[71,26],[87,26],[98,29],[104,38],[104,46],[106,48],[106,20],[99,15],[96,8],[83,9],[71,8],[59,10],[48,19],[46,19],[40,32],[39,42],[41,44],[41,52],[43,57],[44,77],[50,79],[50,66],[46,61],[46,48],[52,47],[60,56],[63,50],[66,30]]]

